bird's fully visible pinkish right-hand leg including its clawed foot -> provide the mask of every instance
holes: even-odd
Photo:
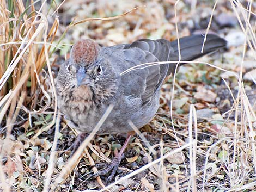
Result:
[[[89,169],[92,169],[93,167],[103,167],[102,170],[90,175],[86,181],[90,178],[95,178],[97,176],[100,176],[100,175],[106,175],[108,174],[109,172],[111,172],[111,174],[108,176],[107,178],[107,181],[106,183],[108,183],[109,181],[112,180],[112,178],[114,177],[115,175],[115,172],[117,172],[117,169],[118,169],[118,165],[120,164],[121,162],[121,158],[123,156],[123,153],[125,151],[125,148],[127,147],[127,145],[129,144],[130,140],[131,140],[131,137],[135,134],[135,132],[129,132],[128,135],[127,135],[127,138],[125,140],[125,143],[123,145],[123,147],[121,148],[121,150],[119,151],[119,153],[115,153],[115,157],[113,158],[112,162],[111,163],[107,163],[107,164],[96,164],[96,165],[93,165],[93,166],[90,166]]]

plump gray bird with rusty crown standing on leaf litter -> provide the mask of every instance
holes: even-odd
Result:
[[[208,34],[206,38],[203,34],[190,35],[174,41],[140,39],[109,47],[100,46],[92,39],[77,41],[56,78],[58,109],[73,128],[90,133],[108,106],[113,105],[96,134],[127,133],[120,152],[92,177],[110,172],[107,183],[111,181],[134,134],[129,122],[141,128],[153,119],[159,109],[162,84],[178,63],[179,66],[185,64],[179,61],[192,61],[226,44],[215,34]],[[123,73],[140,64],[160,61],[161,64]],[[174,62],[164,64],[164,61]]]

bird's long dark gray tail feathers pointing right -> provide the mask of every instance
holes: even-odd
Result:
[[[216,51],[218,48],[225,47],[227,44],[227,41],[218,37],[217,35],[208,34],[206,36],[203,52],[201,53],[204,42],[203,35],[191,35],[185,38],[180,38],[179,42],[181,61],[191,61],[197,59],[207,53]],[[172,41],[171,46],[174,53],[179,55],[178,40]]]

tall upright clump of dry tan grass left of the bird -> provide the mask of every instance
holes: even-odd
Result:
[[[34,4],[26,9],[22,1],[2,1],[1,5],[0,98],[4,102],[0,121],[7,118],[5,126],[10,133],[20,110],[16,108],[19,101],[28,113],[51,108],[54,93],[46,92],[51,90],[46,83],[50,81],[54,87],[49,55],[59,20],[56,18],[48,28],[47,15],[35,11]],[[40,101],[43,96],[45,102]]]

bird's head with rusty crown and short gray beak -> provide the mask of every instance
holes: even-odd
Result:
[[[101,47],[93,40],[76,42],[71,49],[70,59],[60,66],[58,91],[63,89],[75,98],[101,102],[112,96],[117,89],[115,73],[100,51]]]

